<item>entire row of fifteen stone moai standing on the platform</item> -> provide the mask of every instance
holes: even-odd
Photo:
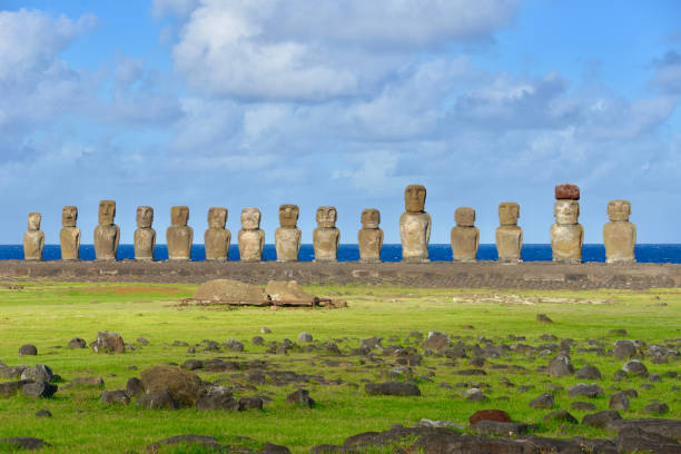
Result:
[[[574,185],[555,187],[553,215],[555,224],[551,226],[551,247],[553,260],[576,264],[582,261],[584,229],[579,224],[580,189]],[[428,241],[432,219],[425,211],[426,189],[421,185],[409,185],[404,193],[405,213],[399,217],[399,236],[402,239],[403,261],[427,263]],[[300,251],[302,233],[297,227],[299,208],[297,205],[279,207],[280,226],[275,231],[277,261],[296,261]],[[226,261],[231,241],[231,234],[225,228],[227,208],[213,207],[208,210],[208,229],[204,234],[207,260]],[[626,200],[612,200],[608,204],[610,221],[603,227],[603,243],[608,263],[634,261],[636,228],[629,221],[631,205]],[[95,228],[95,254],[98,260],[116,260],[120,229],[114,224],[116,203],[102,200],[99,204],[99,225]],[[241,210],[241,229],[238,234],[239,256],[241,261],[260,261],[265,247],[265,231],[260,229],[260,210],[244,208]],[[78,209],[63,207],[62,226],[59,234],[61,258],[77,260],[80,246],[80,229],[76,227]],[[496,250],[499,260],[520,263],[523,246],[523,229],[517,226],[520,206],[505,201],[499,205],[500,227],[496,228]],[[315,261],[336,261],[340,230],[336,228],[337,211],[334,207],[317,208],[317,228],[313,231]],[[456,226],[452,228],[452,254],[454,261],[475,261],[480,246],[480,230],[475,227],[475,210],[460,207],[454,213]],[[42,259],[45,235],[40,231],[40,214],[29,214],[29,230],[23,236],[23,250],[27,260]],[[194,229],[187,225],[189,208],[172,207],[171,226],[166,231],[168,258],[170,260],[189,260]],[[156,230],[154,209],[148,206],[137,208],[137,229],[135,230],[135,258],[154,260]],[[365,263],[381,261],[383,230],[381,213],[377,209],[362,211],[362,229],[357,234],[359,260]]]

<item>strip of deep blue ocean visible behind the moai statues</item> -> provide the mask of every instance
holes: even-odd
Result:
[[[450,245],[430,245],[428,251],[431,254],[431,260],[452,260],[452,247]],[[42,255],[46,260],[59,260],[61,258],[59,245],[46,245]],[[636,245],[635,255],[636,260],[642,263],[681,264],[681,245]],[[157,245],[154,256],[157,260],[167,259],[168,248],[166,245]],[[523,245],[522,257],[525,261],[551,260],[551,245]],[[80,245],[80,258],[83,260],[93,260],[95,246]],[[132,245],[120,245],[118,247],[118,258],[135,258]],[[263,258],[265,260],[277,259],[274,245],[265,245]],[[315,258],[313,245],[302,245],[299,258],[302,261],[312,261]],[[402,259],[402,246],[383,245],[381,258],[384,261],[399,261]],[[477,259],[496,260],[497,258],[495,245],[480,245]],[[605,248],[603,245],[584,245],[582,258],[584,261],[605,261]],[[7,259],[23,259],[23,247],[21,245],[0,245],[0,260]],[[194,245],[191,247],[191,259],[206,259],[204,245]],[[237,245],[231,245],[229,247],[229,259],[239,259],[239,249]],[[357,245],[340,245],[338,248],[339,261],[356,261],[358,259],[359,249]]]

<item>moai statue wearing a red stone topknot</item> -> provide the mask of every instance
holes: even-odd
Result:
[[[555,224],[551,226],[553,261],[580,264],[584,245],[584,228],[578,223],[580,188],[574,185],[559,185],[555,187]]]

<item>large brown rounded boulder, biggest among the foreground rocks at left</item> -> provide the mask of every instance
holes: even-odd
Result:
[[[180,405],[194,405],[200,395],[201,379],[174,366],[154,366],[140,374],[147,394],[167,391]]]

